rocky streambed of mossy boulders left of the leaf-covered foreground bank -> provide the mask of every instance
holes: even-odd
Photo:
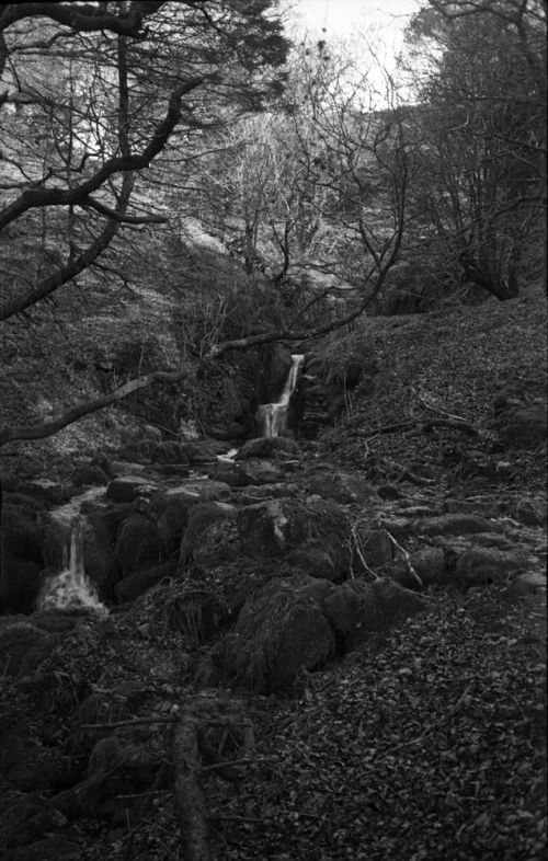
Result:
[[[203,445],[190,463],[100,467],[79,513],[82,566],[106,615],[35,609],[66,564],[64,491],[4,494],[7,858],[92,858],[105,845],[113,858],[174,858],[133,853],[142,822],[172,795],[170,846],[202,858],[205,774],[225,794],[240,761],[258,760],[269,779],[269,710],[306,703],[316,679],[427,618],[442,594],[494,592],[541,612],[538,494],[374,482],[287,438],[217,455]]]

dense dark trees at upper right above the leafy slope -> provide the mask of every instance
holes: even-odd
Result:
[[[545,28],[540,4],[503,0],[432,2],[408,31],[423,251],[499,299],[540,264]]]

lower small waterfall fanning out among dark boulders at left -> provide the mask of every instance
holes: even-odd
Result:
[[[103,492],[102,489],[101,492]],[[80,500],[90,498],[91,495],[88,492]],[[96,495],[96,489],[94,495]],[[93,584],[85,575],[83,564],[85,518],[75,508],[77,508],[75,501],[71,501],[71,503],[58,508],[57,512],[52,512],[54,519],[57,519],[59,525],[69,527],[70,539],[67,542],[64,571],[53,574],[46,579],[38,594],[36,609],[89,609],[105,616],[109,610],[99,599]],[[69,523],[67,523],[68,518],[70,518]]]

